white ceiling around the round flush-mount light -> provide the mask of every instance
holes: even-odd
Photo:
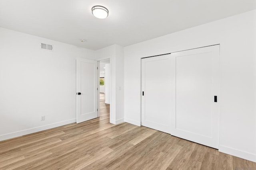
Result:
[[[92,16],[95,5],[108,8],[108,18]],[[254,9],[256,0],[0,0],[0,27],[96,50]]]

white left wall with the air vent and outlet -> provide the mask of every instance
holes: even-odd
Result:
[[[0,28],[0,140],[76,121],[77,57],[94,51]]]

